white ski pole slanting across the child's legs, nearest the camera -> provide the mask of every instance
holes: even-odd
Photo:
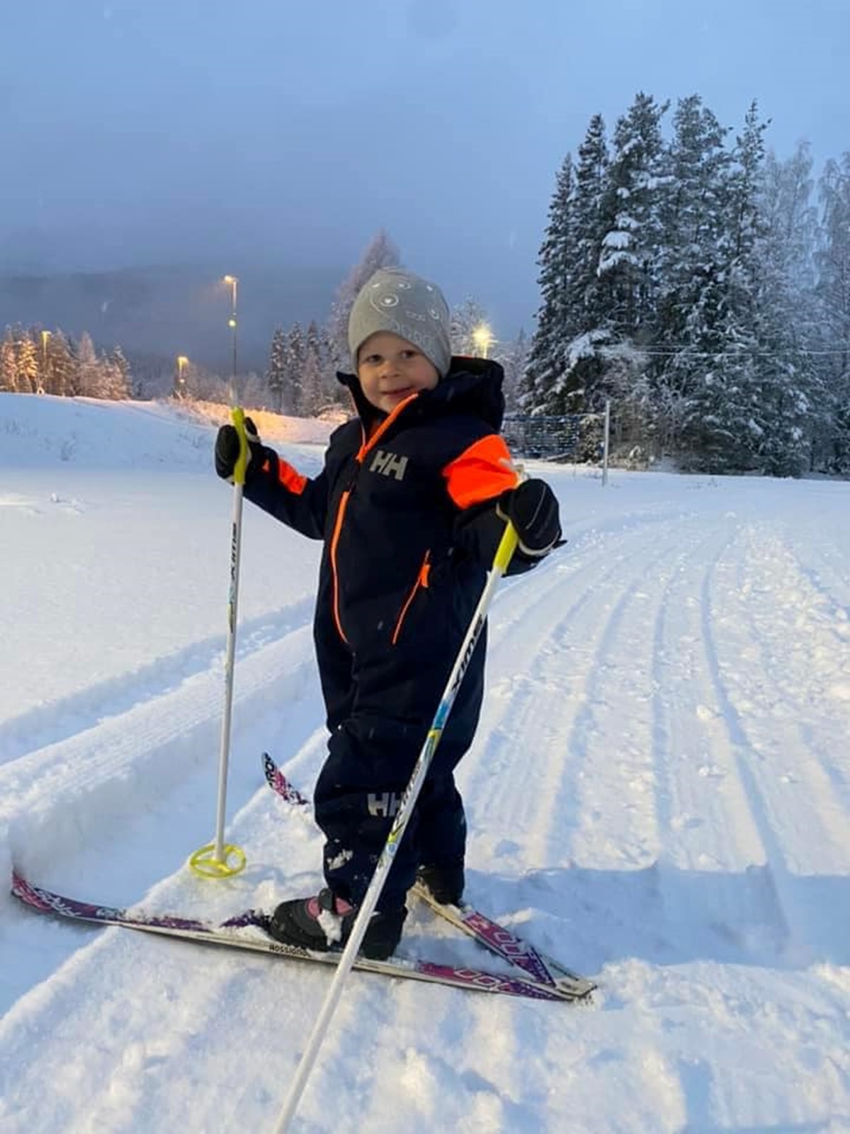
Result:
[[[416,764],[414,765],[410,782],[407,785],[405,794],[401,797],[401,803],[398,812],[396,813],[392,829],[386,838],[384,848],[381,852],[381,857],[377,860],[375,873],[372,875],[372,881],[366,890],[363,905],[360,906],[357,917],[355,919],[355,923],[351,926],[351,934],[348,938],[348,943],[346,945],[342,956],[340,957],[331,987],[328,990],[324,1004],[318,1013],[318,1018],[313,1026],[313,1032],[311,1033],[307,1047],[301,1056],[301,1061],[298,1064],[295,1078],[292,1080],[292,1085],[289,1089],[289,1095],[280,1117],[278,1118],[278,1124],[274,1127],[274,1134],[284,1134],[284,1132],[289,1129],[289,1124],[298,1108],[298,1102],[301,1098],[309,1074],[313,1070],[313,1065],[316,1061],[318,1049],[321,1048],[325,1032],[328,1031],[328,1025],[331,1022],[331,1017],[335,1012],[339,998],[342,993],[342,984],[354,965],[357,950],[360,948],[360,942],[366,933],[369,919],[372,917],[377,899],[383,890],[386,875],[390,872],[390,868],[392,866],[396,857],[396,852],[399,848],[401,838],[407,829],[408,822],[410,821],[410,815],[416,806],[416,801],[419,792],[422,790],[422,785],[425,781],[428,767],[431,765],[434,752],[436,751],[436,746],[440,743],[443,729],[445,728],[445,721],[448,720],[451,708],[454,704],[458,689],[464,680],[464,676],[473,657],[475,645],[481,636],[481,632],[487,617],[487,610],[499,584],[499,579],[508,569],[508,565],[510,564],[511,556],[513,555],[516,548],[517,532],[513,525],[508,523],[493,558],[493,565],[490,568],[487,581],[484,584],[484,590],[482,591],[481,599],[478,600],[478,606],[475,608],[475,613],[469,623],[469,628],[467,629],[464,642],[458,651],[458,655],[454,660],[451,674],[449,675],[449,680],[447,682],[442,699],[437,705],[434,719],[431,722],[428,735],[425,738],[422,752],[419,753]]]

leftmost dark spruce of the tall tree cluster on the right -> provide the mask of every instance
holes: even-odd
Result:
[[[545,412],[564,369],[563,348],[570,338],[564,325],[568,264],[576,237],[572,197],[572,156],[568,153],[555,176],[549,225],[537,256],[541,306],[518,392],[526,413]]]

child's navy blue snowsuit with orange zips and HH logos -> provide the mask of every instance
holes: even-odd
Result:
[[[456,358],[435,389],[389,416],[356,376],[339,378],[359,421],[331,435],[322,472],[306,479],[264,449],[245,494],[324,541],[314,638],[330,738],[315,816],[326,838],[325,880],[358,904],[504,531],[495,503],[518,479],[498,435],[496,363]],[[510,574],[533,565],[517,552]],[[478,722],[485,650],[482,634],[380,909],[403,904],[417,864],[462,863],[466,822],[452,771]]]

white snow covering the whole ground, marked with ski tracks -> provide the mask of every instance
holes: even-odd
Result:
[[[270,420],[307,473],[330,425]],[[315,890],[318,547],[246,507],[229,880],[214,833],[232,490],[213,426],[0,395],[0,868],[214,920]],[[567,548],[503,583],[461,764],[468,892],[597,976],[576,1008],[351,974],[304,1132],[850,1129],[850,484],[544,471]],[[3,888],[8,890],[8,887]],[[414,907],[402,953],[493,967]],[[270,1131],[321,966],[0,894],[0,1129]]]

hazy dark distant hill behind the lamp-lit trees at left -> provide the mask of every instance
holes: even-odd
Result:
[[[272,332],[295,320],[324,320],[346,269],[228,264],[239,277],[239,370],[263,370]],[[227,372],[230,293],[223,273],[204,264],[66,274],[0,274],[0,333],[7,324],[88,331],[99,347],[120,345],[128,357],[172,359],[186,354]]]

